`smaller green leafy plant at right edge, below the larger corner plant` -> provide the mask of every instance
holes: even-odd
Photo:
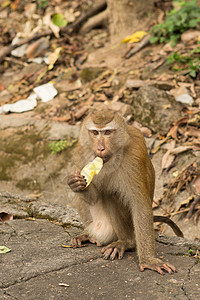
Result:
[[[167,58],[167,63],[173,65],[174,71],[183,71],[184,75],[196,78],[200,73],[200,47],[193,49],[189,53],[179,54],[174,52]]]

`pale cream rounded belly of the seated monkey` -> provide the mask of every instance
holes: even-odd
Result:
[[[110,220],[106,216],[102,204],[97,203],[90,206],[92,222],[87,227],[89,237],[101,245],[107,245],[117,240]]]

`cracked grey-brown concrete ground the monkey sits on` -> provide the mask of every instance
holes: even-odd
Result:
[[[177,268],[177,273],[162,276],[140,272],[135,252],[105,261],[95,245],[62,247],[77,231],[46,219],[0,223],[0,245],[11,249],[0,254],[0,299],[200,299],[200,263],[187,256],[189,248],[200,244],[158,237],[157,257]]]

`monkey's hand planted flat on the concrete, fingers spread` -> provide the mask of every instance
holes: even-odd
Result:
[[[167,271],[170,274],[172,272],[176,272],[176,269],[173,265],[163,262],[162,260],[160,260],[158,258],[154,258],[150,262],[140,264],[140,271],[143,272],[144,269],[150,269],[150,270],[156,271],[161,275],[164,274],[162,269],[164,269],[165,271]]]

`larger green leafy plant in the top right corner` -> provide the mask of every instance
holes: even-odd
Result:
[[[167,14],[167,18],[161,24],[155,25],[151,30],[151,43],[172,42],[174,46],[181,35],[188,29],[196,28],[200,23],[200,7],[197,0],[176,1],[176,8]]]

